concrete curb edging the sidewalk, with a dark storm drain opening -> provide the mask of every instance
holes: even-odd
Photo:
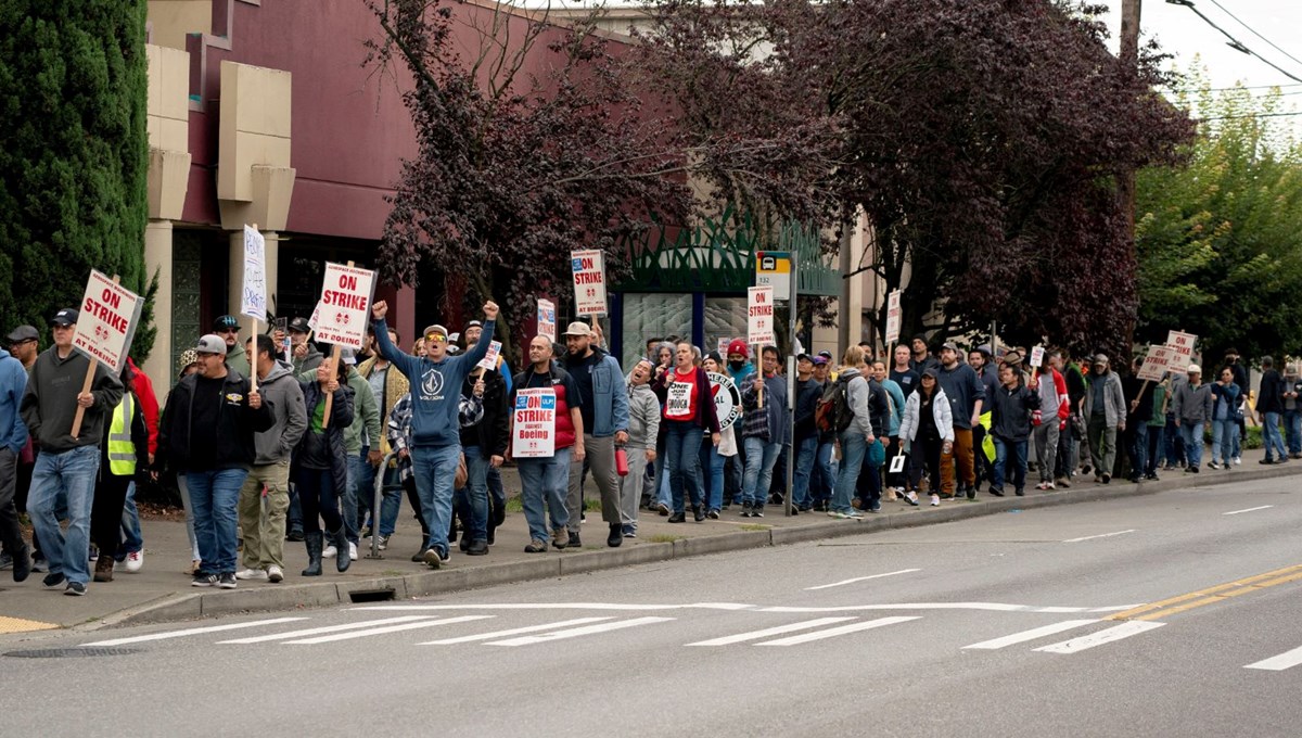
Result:
[[[769,527],[768,530],[745,530],[721,535],[681,538],[668,543],[585,551],[582,553],[547,553],[525,561],[504,561],[484,566],[453,567],[400,577],[378,577],[349,582],[326,581],[310,584],[288,584],[273,588],[247,588],[221,592],[174,592],[121,610],[109,617],[99,618],[95,623],[78,626],[78,630],[195,620],[234,613],[348,605],[359,601],[406,600],[510,582],[549,579],[634,564],[671,561],[689,556],[809,543],[892,528],[948,523],[1010,510],[1118,500],[1174,489],[1197,489],[1225,483],[1276,479],[1299,472],[1302,472],[1302,463],[1289,463],[1263,469],[1240,469],[1228,474],[1224,471],[1199,474],[1197,476],[1181,474],[1178,478],[1170,476],[1160,482],[1146,482],[1142,484],[1131,484],[1125,480],[1107,485],[1083,483],[1072,489],[1036,492],[1027,497],[1000,499],[982,495],[979,501],[948,502],[937,509],[932,509],[924,502],[919,508],[897,509],[879,515],[870,514],[858,522],[823,518],[818,522]],[[786,518],[783,519],[785,521]]]

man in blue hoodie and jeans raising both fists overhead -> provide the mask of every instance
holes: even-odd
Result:
[[[424,357],[404,354],[389,341],[384,321],[388,310],[383,299],[371,305],[371,335],[380,355],[411,383],[411,471],[421,497],[421,514],[430,530],[423,558],[431,569],[439,569],[449,558],[452,482],[461,462],[461,426],[457,419],[461,385],[488,353],[497,325],[497,303],[484,303],[486,320],[479,342],[456,357],[448,355],[448,329],[443,325],[424,329]]]

